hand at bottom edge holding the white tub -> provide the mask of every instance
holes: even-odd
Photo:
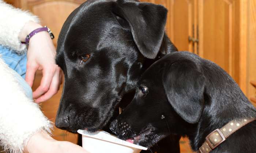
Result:
[[[27,145],[25,153],[88,153],[82,147],[68,141],[57,141],[45,131],[33,134]]]

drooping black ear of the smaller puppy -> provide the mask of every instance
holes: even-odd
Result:
[[[163,87],[174,110],[187,122],[199,121],[204,106],[206,78],[192,61],[165,65]]]

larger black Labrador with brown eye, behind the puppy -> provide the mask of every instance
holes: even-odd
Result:
[[[132,100],[140,75],[177,51],[164,31],[166,16],[162,5],[136,0],[87,0],[69,15],[57,45],[65,76],[58,128],[109,129],[118,106]],[[163,143],[179,152],[180,136],[170,138]]]

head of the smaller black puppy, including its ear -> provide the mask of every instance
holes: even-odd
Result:
[[[191,58],[192,57],[192,58]],[[184,135],[200,119],[205,77],[199,57],[169,54],[142,75],[135,97],[110,129],[123,140],[151,147],[169,134]]]

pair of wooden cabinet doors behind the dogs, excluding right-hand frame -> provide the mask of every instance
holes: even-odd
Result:
[[[239,0],[165,0],[162,4],[169,9],[166,32],[178,50],[217,63],[239,82]]]

